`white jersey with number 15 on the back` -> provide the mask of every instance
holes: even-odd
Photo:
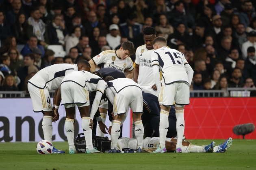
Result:
[[[189,85],[188,74],[184,64],[188,64],[184,55],[175,49],[162,47],[151,53],[152,66],[162,70],[162,80],[166,85],[175,82],[186,82]]]

